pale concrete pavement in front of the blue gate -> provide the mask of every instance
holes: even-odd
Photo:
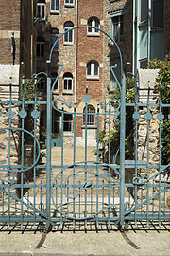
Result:
[[[1,256],[65,256],[65,255],[115,255],[115,256],[170,256],[168,230],[128,231],[127,237],[141,249],[131,247],[117,230],[50,232],[43,247],[35,249],[42,238],[40,232],[0,232]]]

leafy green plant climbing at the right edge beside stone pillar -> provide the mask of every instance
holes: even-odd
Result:
[[[149,62],[148,68],[159,68],[159,75],[157,84],[155,85],[155,92],[160,90],[160,82],[162,86],[162,103],[170,104],[170,55],[166,56],[164,61],[154,59]],[[161,126],[161,152],[163,164],[170,163],[170,120],[168,119],[168,108],[163,108],[163,123]]]

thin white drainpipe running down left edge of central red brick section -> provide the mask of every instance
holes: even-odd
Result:
[[[76,27],[77,27],[77,15],[78,15],[78,0],[76,0]],[[76,42],[75,42],[75,46],[76,46],[76,52],[75,52],[75,104],[76,104],[76,77],[77,77],[77,29],[76,29]]]

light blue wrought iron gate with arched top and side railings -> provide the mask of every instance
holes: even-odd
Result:
[[[73,29],[76,28],[80,27]],[[104,33],[109,36],[106,32]],[[111,37],[110,40],[116,45]],[[58,98],[53,99],[52,92],[62,71],[60,65],[59,75],[51,86],[50,63],[53,48],[50,60],[47,62],[46,101],[39,101],[37,98],[38,76],[35,76],[33,101],[25,100],[25,80],[22,82],[21,100],[12,99],[11,80],[9,100],[0,101],[0,118],[2,119],[0,132],[1,136],[4,135],[6,139],[8,137],[8,162],[0,165],[0,222],[8,223],[8,227],[13,223],[21,223],[21,227],[23,227],[23,223],[26,222],[31,222],[34,226],[36,223],[45,222],[48,229],[51,224],[60,223],[62,226],[65,222],[72,222],[74,227],[76,222],[83,222],[86,227],[88,222],[94,222],[97,226],[99,222],[106,221],[110,226],[110,223],[124,225],[125,222],[131,220],[136,222],[146,220],[147,223],[149,220],[159,220],[161,225],[161,220],[169,220],[170,212],[166,199],[170,184],[168,179],[163,179],[162,182],[162,175],[167,174],[166,171],[170,165],[163,166],[161,164],[161,125],[164,119],[162,109],[169,108],[170,105],[162,104],[161,86],[159,102],[150,103],[149,84],[147,102],[140,102],[137,84],[135,102],[127,103],[125,70],[118,49],[122,71],[122,83],[118,82],[121,101],[112,100],[103,104],[100,102],[96,111],[90,114],[88,106],[91,103],[91,98],[88,96],[88,88],[86,88],[83,98],[84,111],[78,112],[76,103],[71,104]],[[113,68],[111,67],[111,71],[115,77]],[[41,106],[46,108],[47,125],[46,163],[43,164],[40,160],[41,146],[37,138],[39,137],[39,109]],[[125,158],[127,106],[134,109],[133,160]],[[141,114],[142,107],[146,109],[144,117]],[[153,107],[159,109],[157,119],[159,120],[160,158],[159,164],[156,165],[150,164],[149,161],[149,124],[153,119],[151,114]],[[61,137],[57,139],[52,137],[52,110],[59,114],[61,121]],[[64,115],[68,113],[73,117],[71,146],[68,146],[65,141],[63,129]],[[28,114],[30,114],[29,121],[32,121],[32,131],[28,131],[25,127],[25,119]],[[89,146],[92,140],[92,137],[89,137],[89,115],[92,115],[95,126],[95,156]],[[116,153],[111,151],[110,134],[113,129],[112,122],[118,115],[120,115],[121,128],[120,161],[117,163],[113,160],[113,155]],[[108,159],[103,161],[99,157],[101,146],[99,133],[106,119],[108,120],[107,133],[109,137]],[[139,161],[138,157],[140,119],[146,122],[147,127],[145,161]],[[84,147],[81,149],[77,146],[76,141],[76,131],[79,128],[78,120],[81,120],[84,131]],[[16,143],[17,137],[20,138],[18,143]],[[27,145],[26,141],[30,141],[31,144]],[[2,151],[3,145],[1,143]],[[20,155],[18,163],[12,162],[12,149],[14,148]],[[29,163],[26,162],[27,158],[30,159]],[[131,172],[128,179],[126,178],[127,172]]]

